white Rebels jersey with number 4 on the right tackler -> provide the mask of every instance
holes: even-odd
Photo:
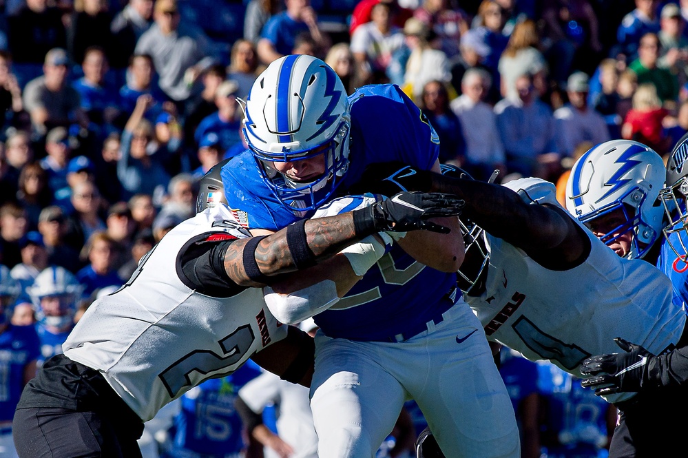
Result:
[[[548,189],[542,180],[527,180],[505,186],[519,191],[535,185],[538,191],[528,192],[530,197]],[[551,197],[538,200],[558,205],[554,185],[550,190]],[[614,337],[655,354],[678,342],[686,313],[671,301],[669,278],[648,262],[620,258],[587,228],[585,233],[592,244],[590,256],[567,271],[545,269],[521,249],[484,233],[490,253],[486,292],[466,295],[466,302],[488,340],[529,360],[550,360],[577,377],[582,377],[578,367],[585,358],[621,351]],[[605,399],[617,402],[630,396]]]

